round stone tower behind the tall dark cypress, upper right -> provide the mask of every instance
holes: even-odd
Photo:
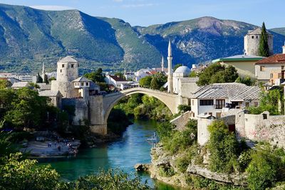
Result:
[[[244,36],[244,51],[246,55],[258,56],[259,40],[261,36],[261,28],[257,28],[253,31],[248,31]],[[267,40],[269,46],[269,55],[273,55],[273,35],[267,31]]]

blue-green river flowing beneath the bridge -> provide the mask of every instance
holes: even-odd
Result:
[[[157,122],[154,120],[135,120],[115,142],[101,144],[95,148],[80,149],[76,157],[39,159],[40,164],[51,164],[61,174],[61,178],[72,181],[79,176],[94,174],[101,169],[120,168],[134,175],[137,163],[150,163],[151,144],[146,139],[155,132]],[[143,172],[138,173],[142,181],[155,186],[156,189],[177,189],[150,178]]]

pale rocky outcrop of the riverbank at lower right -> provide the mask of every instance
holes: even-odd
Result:
[[[195,162],[185,166],[185,172],[181,172],[176,164],[176,159],[181,155],[170,155],[163,150],[161,144],[151,151],[151,164],[137,164],[138,171],[148,171],[153,179],[163,181],[167,184],[180,186],[185,189],[192,187],[191,176],[199,176],[205,179],[217,181],[221,184],[232,184],[237,186],[247,185],[244,174],[221,174],[212,172],[207,167],[201,167]]]

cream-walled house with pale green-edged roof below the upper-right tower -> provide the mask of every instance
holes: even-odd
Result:
[[[260,56],[248,56],[248,55],[237,55],[227,58],[218,58],[212,60],[212,63],[220,63],[221,65],[232,65],[237,69],[239,76],[244,78],[249,76],[250,78],[256,78],[255,75],[255,63],[263,59],[264,57]]]

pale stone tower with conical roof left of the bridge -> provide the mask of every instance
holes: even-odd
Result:
[[[51,90],[59,90],[63,97],[76,97],[77,90],[72,81],[78,78],[78,62],[71,56],[58,60],[56,80],[51,81]]]

